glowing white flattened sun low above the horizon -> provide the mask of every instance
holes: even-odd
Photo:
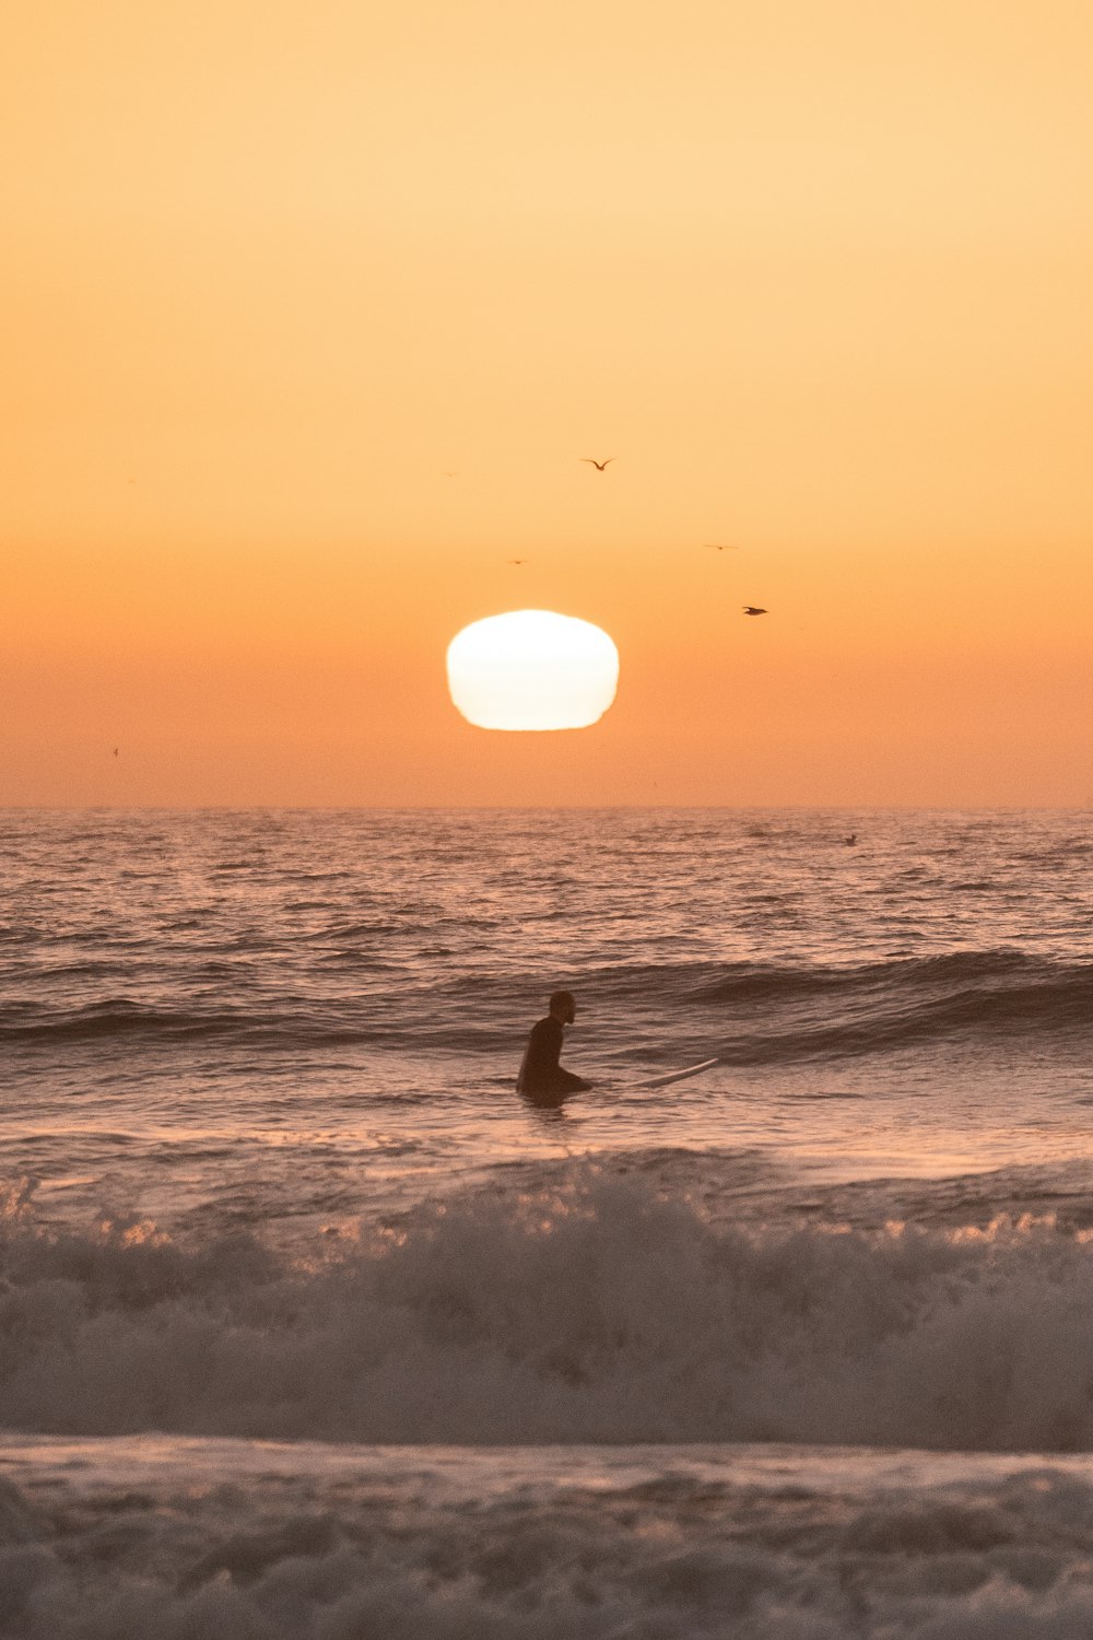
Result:
[[[478,728],[588,728],[615,700],[618,649],[572,615],[490,615],[449,643],[447,687]]]

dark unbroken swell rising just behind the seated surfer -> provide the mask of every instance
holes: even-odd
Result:
[[[154,1004],[123,995],[70,1007],[10,1000],[0,1009],[0,1041],[236,1038],[511,1051],[542,1002],[541,976],[487,971],[429,982],[382,963],[359,966],[359,989],[349,995],[344,986],[324,992],[318,961],[308,976],[293,973],[295,982],[310,986],[295,995],[247,992],[246,976],[226,968],[208,1002],[185,997],[174,1004],[169,995]],[[216,979],[208,964],[202,977]],[[1088,1032],[1093,1017],[1093,963],[1016,951],[854,966],[613,964],[567,977],[616,1038],[639,1015],[644,1038],[678,1041],[687,1028],[690,1041],[729,1064],[873,1053],[960,1035],[1054,1040]]]

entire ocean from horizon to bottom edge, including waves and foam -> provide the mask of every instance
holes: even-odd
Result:
[[[1088,1640],[1091,868],[5,812],[0,1635]]]

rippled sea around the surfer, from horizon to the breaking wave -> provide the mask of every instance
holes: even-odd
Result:
[[[575,1150],[1086,1158],[1091,851],[1042,812],[10,813],[3,1166],[285,1225]],[[596,1089],[547,1118],[511,1079],[560,984]]]

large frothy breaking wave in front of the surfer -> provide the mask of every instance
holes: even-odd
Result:
[[[0,1425],[374,1443],[1093,1451],[1090,1232],[714,1225],[574,1163],[292,1263],[0,1237]]]

